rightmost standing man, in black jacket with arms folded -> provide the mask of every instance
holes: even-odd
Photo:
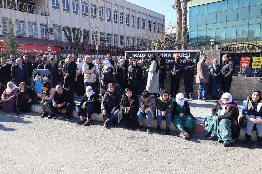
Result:
[[[220,75],[222,88],[224,93],[229,93],[231,88],[231,82],[233,80],[232,76],[235,72],[235,64],[228,58],[227,54],[223,55],[222,60],[224,62]]]

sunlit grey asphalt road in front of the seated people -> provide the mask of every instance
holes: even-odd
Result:
[[[0,173],[262,173],[262,147],[0,111]],[[186,147],[187,149],[182,149]]]

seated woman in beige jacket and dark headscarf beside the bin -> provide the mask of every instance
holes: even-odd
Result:
[[[52,103],[52,98],[54,97],[56,93],[56,89],[53,88],[49,82],[43,82],[42,89],[44,91],[44,94],[37,94],[37,96],[42,99],[40,104],[41,104],[43,114],[40,117],[44,118],[48,116],[47,114],[47,110],[48,110],[50,115],[47,118],[51,119],[55,116],[55,114],[51,111],[49,104]]]

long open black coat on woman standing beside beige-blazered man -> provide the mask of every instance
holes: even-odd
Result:
[[[219,76],[216,76],[216,82],[217,82],[217,90],[218,90],[218,93],[220,94],[220,96],[222,96],[223,94],[223,89],[222,89],[222,82],[221,82],[221,79],[220,79],[220,76],[221,76],[221,66],[220,65],[217,65],[217,68],[216,68],[216,72],[213,72],[213,65],[210,65],[208,67],[209,69],[209,81],[208,81],[208,87],[207,87],[207,95],[212,95],[212,85],[213,85],[213,76],[214,76],[214,73],[220,73]]]

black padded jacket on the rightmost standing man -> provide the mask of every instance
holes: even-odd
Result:
[[[221,81],[232,81],[235,73],[235,63],[231,60],[223,64],[221,69]]]

